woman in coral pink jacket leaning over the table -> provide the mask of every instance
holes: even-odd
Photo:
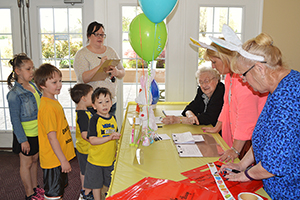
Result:
[[[251,146],[251,137],[256,121],[265,105],[267,94],[260,94],[248,83],[231,71],[230,60],[235,52],[212,43],[207,48],[204,59],[212,62],[212,67],[226,75],[224,104],[215,127],[203,127],[205,132],[217,133],[222,129],[222,137],[231,147],[220,157],[220,161],[240,159]]]

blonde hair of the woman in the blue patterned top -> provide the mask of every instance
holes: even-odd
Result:
[[[261,33],[243,44],[243,49],[254,55],[265,58],[266,66],[272,70],[287,68],[282,60],[282,54],[278,47],[273,45],[273,39],[266,33]],[[239,65],[253,65],[257,61],[247,59],[237,54],[231,62],[231,69],[234,73],[240,74]]]

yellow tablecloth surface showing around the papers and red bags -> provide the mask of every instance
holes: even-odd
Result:
[[[155,116],[163,117],[162,110],[183,110],[186,105],[187,102],[159,102],[154,110],[154,114]],[[132,126],[127,119],[137,114],[135,110],[136,104],[129,102],[120,132],[122,137],[118,145],[117,160],[112,174],[109,196],[128,188],[145,177],[173,181],[186,179],[180,173],[219,159],[219,157],[180,158],[173,141],[163,140],[154,142],[148,147],[144,147],[140,143],[139,148],[143,151],[143,163],[139,165],[135,158],[137,147],[129,145]],[[203,126],[185,124],[163,125],[163,128],[158,128],[157,132],[158,134],[167,134],[170,137],[172,133],[183,133],[186,131],[190,131],[193,134],[205,134],[201,127]],[[229,149],[219,134],[213,133],[212,135],[224,150]],[[257,193],[271,199],[263,189],[260,189]]]

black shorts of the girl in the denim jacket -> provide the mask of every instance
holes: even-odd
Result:
[[[36,153],[39,152],[39,140],[38,137],[27,137],[27,141],[29,142],[30,145],[30,151],[28,154],[25,154],[22,151],[21,144],[18,142],[17,137],[15,134],[13,134],[13,152],[16,154],[19,154],[22,152],[23,155],[25,156],[33,156]]]

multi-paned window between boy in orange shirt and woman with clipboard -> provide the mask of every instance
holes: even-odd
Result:
[[[64,108],[71,131],[75,131],[75,103],[69,88],[76,84],[73,61],[82,48],[81,8],[40,8],[41,62],[62,72],[63,86],[57,99]]]

